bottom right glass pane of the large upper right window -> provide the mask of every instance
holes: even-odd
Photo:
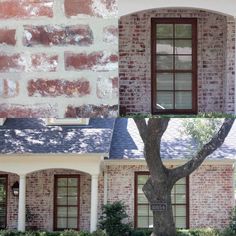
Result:
[[[176,92],[175,93],[175,108],[176,109],[192,109],[192,93],[191,92]]]

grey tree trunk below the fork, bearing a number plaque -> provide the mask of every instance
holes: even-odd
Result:
[[[158,178],[160,179],[160,178]],[[143,187],[153,211],[152,236],[175,236],[176,229],[171,204],[171,189],[173,185],[162,175],[162,181],[150,177]]]

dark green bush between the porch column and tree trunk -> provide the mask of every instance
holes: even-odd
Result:
[[[126,206],[120,201],[104,205],[99,228],[105,230],[108,236],[128,235],[131,231],[131,224],[124,223],[128,218],[125,210]]]

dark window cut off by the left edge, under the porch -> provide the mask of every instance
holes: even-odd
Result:
[[[7,176],[0,175],[0,229],[7,227]]]

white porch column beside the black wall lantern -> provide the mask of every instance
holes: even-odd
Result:
[[[17,230],[21,232],[25,231],[25,195],[26,195],[26,175],[20,175]]]

